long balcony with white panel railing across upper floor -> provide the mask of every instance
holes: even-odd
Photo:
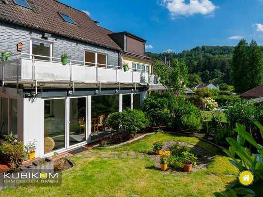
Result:
[[[39,60],[44,59],[44,60]],[[89,64],[89,65],[87,65]],[[15,82],[85,82],[85,83],[148,83],[147,71],[134,71],[119,66],[68,60],[30,54],[12,55],[0,64],[0,80]]]

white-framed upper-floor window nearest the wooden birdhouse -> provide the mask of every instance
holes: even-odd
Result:
[[[42,43],[42,42],[38,42],[38,41],[32,41],[31,43],[32,43],[31,44],[32,55],[39,55],[39,56],[46,56],[46,57],[52,56],[51,44]],[[35,56],[35,59],[36,60],[50,61],[50,58],[38,57],[38,56]]]

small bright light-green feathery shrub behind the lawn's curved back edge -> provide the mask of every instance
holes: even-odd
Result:
[[[202,129],[202,120],[200,112],[185,114],[182,117],[182,123],[186,127],[186,129],[189,129],[191,132],[200,131]]]

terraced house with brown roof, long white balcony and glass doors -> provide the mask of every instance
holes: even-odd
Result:
[[[1,0],[0,50],[13,55],[0,62],[0,138],[35,140],[46,157],[112,135],[108,114],[139,108],[152,62],[145,40],[108,34],[57,0]],[[123,62],[134,69],[124,72]]]

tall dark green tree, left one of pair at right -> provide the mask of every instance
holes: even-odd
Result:
[[[248,67],[248,43],[242,39],[234,49],[232,61],[232,83],[238,93],[248,90]]]

